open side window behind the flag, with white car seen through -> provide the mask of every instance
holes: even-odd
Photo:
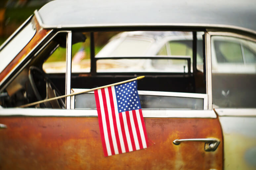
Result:
[[[207,109],[203,71],[188,71],[193,55],[192,32],[95,32],[93,35],[95,56],[91,56],[91,72],[73,72],[71,93],[145,75],[138,85],[143,109]],[[198,37],[200,44],[202,34]],[[197,63],[203,58],[200,45]],[[72,96],[71,109],[96,109],[93,92]]]

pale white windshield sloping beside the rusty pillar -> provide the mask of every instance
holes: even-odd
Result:
[[[7,45],[5,45],[0,51],[0,72],[20,53],[23,47],[33,38],[35,33],[35,27],[29,22]]]

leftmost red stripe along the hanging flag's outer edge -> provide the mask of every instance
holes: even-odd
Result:
[[[100,107],[98,90],[94,90],[94,96],[95,96],[96,107],[97,107],[97,112],[98,112],[98,121],[99,121],[100,133],[101,133],[103,152],[104,152],[104,156],[107,157],[108,156],[107,155],[107,146],[106,146],[105,137],[104,137],[104,130],[103,130],[103,124],[102,124],[101,107]]]

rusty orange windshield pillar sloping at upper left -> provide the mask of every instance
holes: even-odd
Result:
[[[50,30],[42,29],[35,17],[32,18],[32,22],[34,22],[36,26],[36,33],[34,37],[0,73],[0,82],[26,57],[26,55],[39,43],[39,41],[50,32]]]

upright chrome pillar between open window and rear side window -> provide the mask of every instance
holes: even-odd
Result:
[[[211,36],[208,32],[206,32],[205,35],[206,93],[208,94],[208,109],[212,109]]]

